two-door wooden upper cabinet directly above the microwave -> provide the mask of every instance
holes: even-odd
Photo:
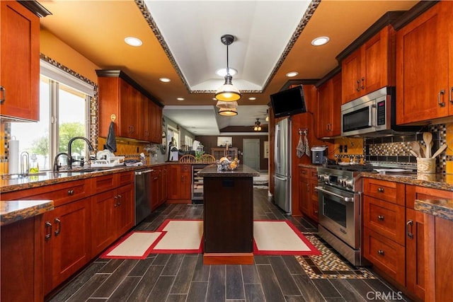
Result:
[[[395,85],[395,30],[386,25],[341,62],[342,104]]]

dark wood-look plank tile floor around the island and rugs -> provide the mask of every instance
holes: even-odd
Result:
[[[202,219],[202,211],[202,204],[163,205],[136,229],[154,231],[165,219]],[[254,219],[289,219],[301,231],[316,231],[304,219],[284,216],[267,190],[254,190],[253,214]],[[203,265],[202,255],[159,254],[145,260],[97,259],[48,300],[317,302],[398,297],[380,278],[310,279],[294,256],[255,256],[254,265]]]

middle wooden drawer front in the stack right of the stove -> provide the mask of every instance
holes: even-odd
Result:
[[[405,209],[397,204],[365,196],[363,225],[401,245],[405,243]]]

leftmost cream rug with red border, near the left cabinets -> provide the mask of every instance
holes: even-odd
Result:
[[[162,232],[132,231],[105,250],[101,258],[145,259],[149,255],[153,243],[162,236],[164,236]]]

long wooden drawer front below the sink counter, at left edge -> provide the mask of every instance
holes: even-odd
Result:
[[[52,199],[54,207],[62,204],[74,202],[90,195],[90,185],[88,180],[75,180],[71,182],[62,182],[55,185],[47,185],[28,190],[20,190],[1,194],[2,200],[42,200]]]

